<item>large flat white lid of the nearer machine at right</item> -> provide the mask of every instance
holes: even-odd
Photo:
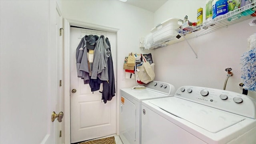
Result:
[[[177,97],[150,100],[150,103],[212,133],[245,120],[243,116]]]

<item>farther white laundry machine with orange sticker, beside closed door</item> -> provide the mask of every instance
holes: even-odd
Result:
[[[174,96],[172,84],[152,81],[145,89],[120,89],[119,136],[124,144],[141,144],[141,102]]]

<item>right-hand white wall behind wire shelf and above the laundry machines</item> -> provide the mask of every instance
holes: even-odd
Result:
[[[196,12],[201,4],[205,4],[205,1],[197,6],[190,0],[170,0],[154,13],[154,23],[176,17],[175,14],[178,18],[188,15],[189,19],[196,20]],[[182,14],[177,12],[179,9]],[[153,53],[155,79],[169,82],[176,88],[192,85],[223,89],[227,75],[225,68],[232,68],[234,75],[228,79],[226,90],[242,93],[238,87],[242,82],[240,56],[247,51],[247,38],[256,32],[255,26],[248,25],[249,21],[188,40],[198,59],[186,41],[156,49]],[[248,95],[256,98],[253,92]]]

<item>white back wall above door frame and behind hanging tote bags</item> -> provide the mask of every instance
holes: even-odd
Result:
[[[118,0],[63,0],[61,3],[64,18],[120,29],[117,36],[117,86],[135,86],[134,79],[124,79],[124,57],[129,52],[141,53],[139,38],[153,28],[153,13]]]

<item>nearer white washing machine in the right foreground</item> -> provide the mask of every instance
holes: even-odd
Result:
[[[256,144],[256,101],[182,86],[174,97],[142,102],[142,144]]]

